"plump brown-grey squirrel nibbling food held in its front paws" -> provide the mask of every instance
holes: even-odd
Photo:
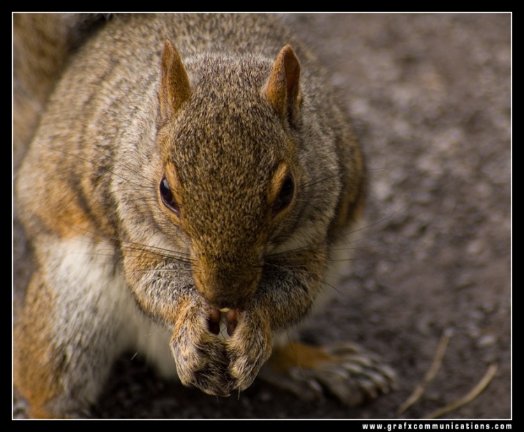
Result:
[[[366,196],[315,56],[261,14],[117,14],[73,45],[15,180],[36,257],[13,330],[29,414],[76,417],[130,349],[211,395],[257,375],[349,405],[388,392],[373,355],[292,336],[347,265]]]

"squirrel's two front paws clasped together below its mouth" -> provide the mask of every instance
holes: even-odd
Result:
[[[257,314],[230,311],[227,332],[218,335],[216,309],[195,304],[177,320],[170,348],[184,385],[229,396],[248,388],[271,355],[271,333]]]

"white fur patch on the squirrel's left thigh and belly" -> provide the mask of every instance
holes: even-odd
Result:
[[[59,336],[55,343],[70,346],[70,357],[82,355],[75,352],[75,346],[86,345],[82,338],[89,327],[93,332],[90,343],[107,349],[107,358],[114,360],[129,350],[154,364],[163,376],[175,377],[171,331],[140,311],[114,246],[77,237],[60,240],[49,250],[46,259],[52,267],[47,268],[54,271],[45,277],[55,287],[59,302],[66,305],[56,313],[54,334]]]

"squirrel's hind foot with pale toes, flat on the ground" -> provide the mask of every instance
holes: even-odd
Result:
[[[354,344],[328,347],[292,343],[277,348],[261,378],[301,399],[327,393],[346,406],[359,406],[393,389],[396,373],[375,355]]]

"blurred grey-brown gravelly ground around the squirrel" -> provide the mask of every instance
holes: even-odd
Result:
[[[303,402],[255,381],[216,399],[115,365],[96,417],[421,418],[483,392],[443,418],[508,419],[511,399],[511,15],[287,15],[331,71],[368,159],[366,228],[339,295],[304,337],[354,340],[398,373],[394,392],[361,408]],[[15,295],[26,244],[15,222]],[[426,392],[399,414],[451,332]],[[490,369],[493,370],[493,369]],[[13,417],[24,417],[15,398]]]

